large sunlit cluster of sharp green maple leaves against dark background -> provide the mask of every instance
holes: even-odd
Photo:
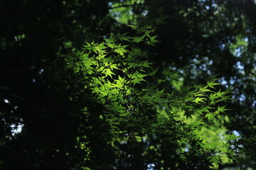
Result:
[[[111,33],[103,42],[86,42],[72,66],[87,82],[90,98],[105,108],[99,116],[112,134],[117,163],[113,166],[122,169],[127,166],[122,162],[134,162],[132,157],[154,169],[217,168],[233,162],[231,145],[238,137],[225,135],[221,124],[228,110],[223,106],[230,100],[228,91],[215,91],[217,79],[186,86],[177,72],[159,73],[143,50],[144,45],[158,42],[153,35],[156,28],[130,27],[136,33]],[[155,84],[147,83],[149,79]],[[164,89],[166,84],[169,89]],[[88,110],[85,114],[94,114]],[[128,154],[124,145],[141,150]],[[90,145],[80,142],[80,147],[87,150],[85,159],[90,162]]]

